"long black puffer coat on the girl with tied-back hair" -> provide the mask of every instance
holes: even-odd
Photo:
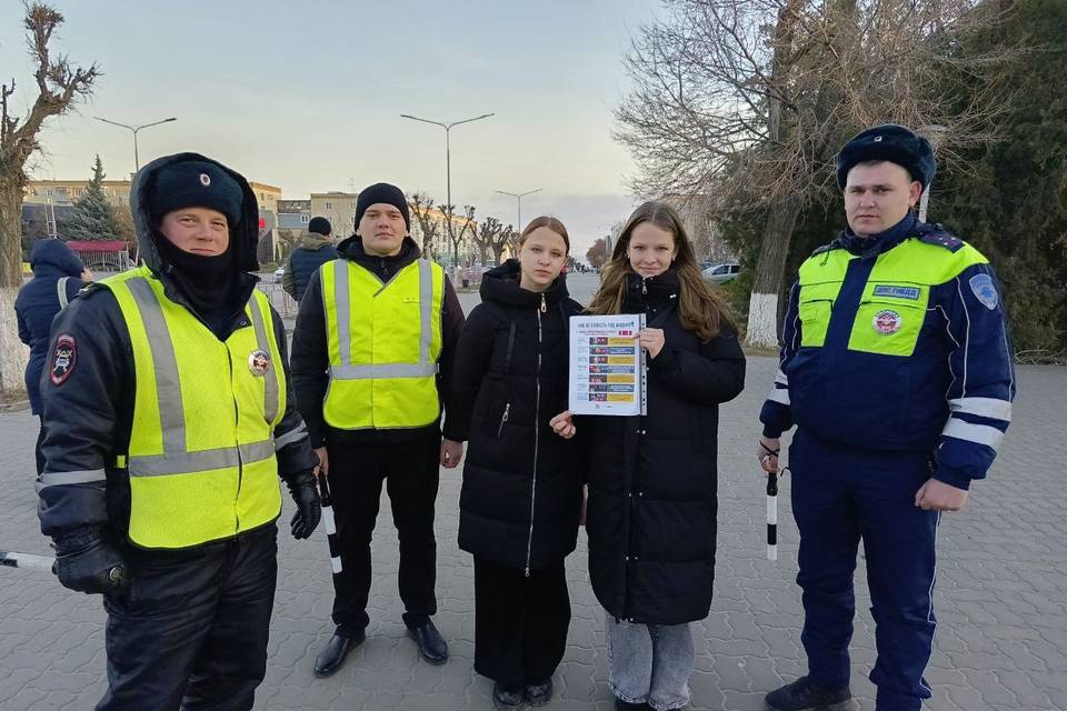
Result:
[[[558,278],[519,288],[515,260],[487,272],[459,339],[456,423],[467,425],[459,547],[531,570],[575,550],[581,461],[548,421],[567,409],[569,318],[581,306]]]

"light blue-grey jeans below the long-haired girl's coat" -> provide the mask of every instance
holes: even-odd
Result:
[[[608,685],[629,703],[656,711],[689,703],[696,654],[689,624],[641,624],[607,615]]]

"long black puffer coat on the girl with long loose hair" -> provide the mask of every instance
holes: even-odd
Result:
[[[715,580],[719,403],[745,387],[732,330],[701,343],[682,328],[674,270],[631,274],[622,310],[647,314],[665,346],[648,361],[648,414],[586,417],[589,575],[614,617],[700,620]],[[585,430],[585,432],[582,432]]]

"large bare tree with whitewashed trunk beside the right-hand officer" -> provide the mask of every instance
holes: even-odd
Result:
[[[978,0],[668,0],[626,59],[635,89],[616,138],[641,169],[635,188],[717,194],[764,216],[748,342],[777,344],[777,310],[799,211],[832,180],[857,130],[944,127],[939,158],[991,138],[1000,104],[938,101],[939,72],[988,72],[958,39],[997,18]]]

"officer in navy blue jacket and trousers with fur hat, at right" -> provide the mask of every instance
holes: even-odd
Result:
[[[758,458],[789,448],[800,532],[808,674],[774,711],[849,703],[852,573],[864,541],[878,711],[911,711],[934,642],[935,538],[1011,420],[1011,343],[996,277],[976,249],[913,213],[934,178],[926,139],[885,124],[837,158],[848,229],[800,267]]]

